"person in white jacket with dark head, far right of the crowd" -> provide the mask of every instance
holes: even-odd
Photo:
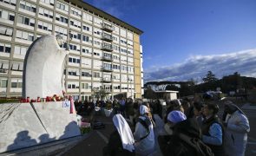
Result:
[[[250,132],[249,120],[232,101],[226,101],[225,152],[228,156],[244,156],[246,152],[247,133]]]

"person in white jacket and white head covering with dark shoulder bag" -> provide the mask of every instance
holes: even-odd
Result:
[[[135,153],[137,156],[154,152],[154,128],[148,117],[148,107],[141,105],[139,121],[135,127]]]

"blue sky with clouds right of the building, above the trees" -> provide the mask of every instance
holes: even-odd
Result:
[[[235,71],[256,76],[255,0],[85,2],[144,31],[141,43],[146,81],[200,79],[207,70],[218,77]],[[241,60],[243,55],[250,58]]]

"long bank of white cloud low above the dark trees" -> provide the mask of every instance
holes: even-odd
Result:
[[[201,80],[207,71],[217,77],[239,72],[241,75],[256,76],[256,49],[223,55],[194,55],[185,62],[169,67],[145,69],[145,81],[187,81],[191,78]]]

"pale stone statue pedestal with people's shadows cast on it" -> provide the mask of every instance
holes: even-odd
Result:
[[[69,113],[62,101],[0,104],[0,153],[80,135]]]

